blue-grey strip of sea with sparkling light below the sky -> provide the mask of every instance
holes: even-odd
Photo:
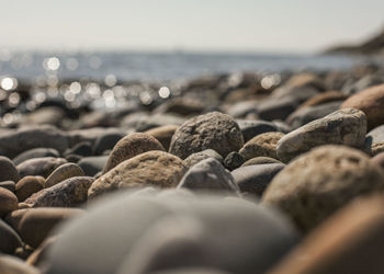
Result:
[[[151,81],[191,79],[239,71],[348,69],[377,59],[329,55],[138,53],[138,52],[11,52],[0,49],[0,78],[34,81],[55,75],[58,79],[94,81]],[[381,60],[382,61],[382,60]]]

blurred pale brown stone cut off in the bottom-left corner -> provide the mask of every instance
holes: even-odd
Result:
[[[41,274],[41,271],[11,255],[0,255],[0,273],[3,274]]]

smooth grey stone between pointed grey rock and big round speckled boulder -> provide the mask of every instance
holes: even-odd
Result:
[[[283,170],[283,163],[266,163],[248,165],[231,172],[234,180],[241,193],[261,196],[272,179]]]

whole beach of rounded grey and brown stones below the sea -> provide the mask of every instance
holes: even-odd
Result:
[[[384,272],[384,68],[75,83],[0,92],[0,273]]]

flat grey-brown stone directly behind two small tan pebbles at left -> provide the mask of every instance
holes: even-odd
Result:
[[[21,178],[29,175],[47,178],[55,169],[66,162],[67,160],[64,158],[42,157],[23,161],[16,168]]]

